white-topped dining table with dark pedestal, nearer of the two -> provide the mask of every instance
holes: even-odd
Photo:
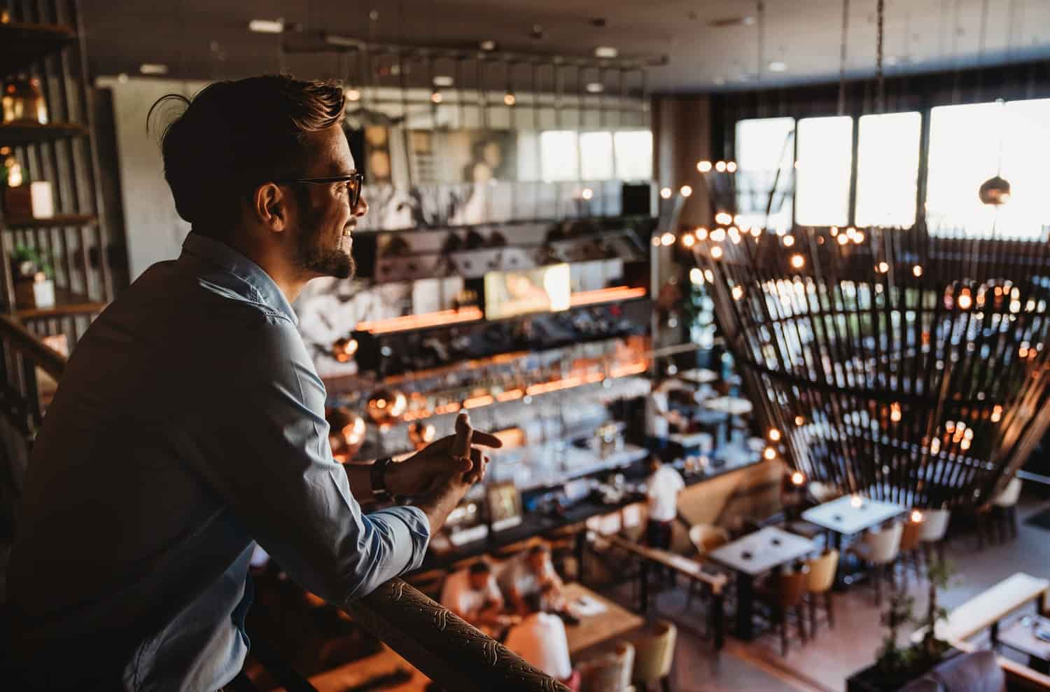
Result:
[[[708,553],[714,562],[736,573],[736,636],[755,637],[755,578],[820,549],[810,539],[776,526],[749,533]]]

